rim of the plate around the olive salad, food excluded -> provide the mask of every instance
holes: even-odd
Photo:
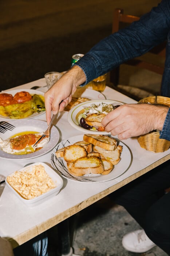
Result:
[[[93,103],[95,103],[96,105],[99,105],[101,102],[106,103],[106,104],[114,103],[115,105],[123,105],[124,104],[123,102],[110,100],[110,99],[103,99],[103,100],[98,99],[98,100],[94,100],[94,101],[82,102],[82,103],[79,103],[78,105],[76,105],[74,108],[70,109],[70,111],[68,112],[68,115],[67,115],[68,122],[72,125],[72,127],[74,127],[75,129],[77,129],[81,132],[90,133],[90,134],[94,134],[94,133],[108,134],[108,132],[105,132],[105,131],[99,132],[99,131],[91,131],[88,129],[84,129],[76,121],[77,114],[84,108],[84,106],[88,107]]]

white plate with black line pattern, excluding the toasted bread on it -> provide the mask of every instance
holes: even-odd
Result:
[[[114,137],[112,137],[112,138],[114,138]],[[120,162],[114,166],[114,169],[109,174],[107,174],[107,175],[86,174],[86,175],[80,176],[80,177],[71,175],[67,170],[67,163],[66,163],[66,161],[64,161],[64,158],[63,157],[56,158],[55,152],[59,148],[67,147],[67,146],[74,144],[75,142],[78,142],[81,140],[83,140],[83,135],[71,137],[67,140],[63,140],[62,142],[60,142],[57,145],[57,147],[55,148],[55,150],[53,150],[54,152],[51,155],[52,166],[64,178],[74,180],[74,181],[79,181],[79,182],[104,182],[104,181],[113,180],[113,179],[119,177],[120,175],[122,175],[124,172],[126,172],[129,169],[129,167],[131,165],[131,161],[132,161],[131,151],[126,146],[126,144],[124,144],[123,142],[116,139],[118,141],[118,144],[120,146],[123,146],[123,149],[122,149],[122,153],[120,155],[120,158],[121,158]]]

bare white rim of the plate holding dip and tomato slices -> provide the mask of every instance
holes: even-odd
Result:
[[[22,119],[22,120],[16,120],[11,122],[9,121],[9,124],[10,123],[14,125],[15,128],[12,131],[6,131],[5,133],[0,133],[0,137],[3,140],[6,140],[12,135],[15,135],[20,132],[24,132],[24,131],[44,132],[47,129],[47,122],[41,121],[41,120]],[[37,150],[30,154],[25,154],[25,155],[13,155],[13,154],[6,153],[0,149],[0,157],[5,159],[11,159],[11,160],[25,160],[25,159],[40,157],[40,155],[44,155],[50,150],[52,150],[58,143],[59,138],[60,138],[59,131],[53,125],[51,128],[50,141],[47,143],[46,146],[44,146],[40,150]]]

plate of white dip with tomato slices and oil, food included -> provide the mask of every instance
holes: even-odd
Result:
[[[47,129],[47,122],[41,120],[16,120],[9,121],[15,128],[12,131],[0,133],[0,157],[11,160],[23,160],[39,157],[52,150],[59,141],[58,129],[53,125],[51,128],[50,140],[45,137],[37,147],[33,144],[40,138]]]

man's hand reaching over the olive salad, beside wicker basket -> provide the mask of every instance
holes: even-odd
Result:
[[[155,129],[162,130],[168,107],[153,104],[124,104],[102,120],[106,132],[120,140],[139,136]]]

